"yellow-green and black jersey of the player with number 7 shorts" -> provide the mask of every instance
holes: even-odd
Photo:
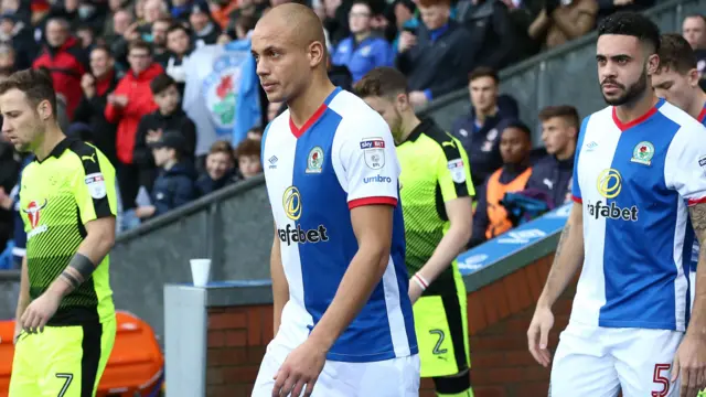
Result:
[[[22,173],[20,206],[26,232],[30,297],[39,298],[64,271],[86,237],[84,225],[115,216],[115,170],[95,147],[64,139]],[[49,325],[103,322],[115,314],[106,256],[64,297]]]

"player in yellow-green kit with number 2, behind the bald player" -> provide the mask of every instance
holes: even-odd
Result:
[[[438,396],[470,397],[467,296],[456,261],[471,237],[475,191],[468,155],[434,120],[415,115],[402,72],[374,68],[355,93],[383,116],[397,144],[421,377],[434,379]]]

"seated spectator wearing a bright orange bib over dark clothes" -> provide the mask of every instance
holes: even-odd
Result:
[[[500,203],[505,193],[525,189],[532,175],[530,151],[532,131],[520,121],[510,122],[501,135],[503,167],[493,172],[478,192],[470,247],[496,237],[513,227],[507,211]]]

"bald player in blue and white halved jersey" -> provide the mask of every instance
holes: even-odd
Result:
[[[276,335],[253,395],[418,396],[389,127],[331,84],[323,28],[310,8],[272,8],[252,41],[267,99],[288,108],[261,140],[275,218]]]

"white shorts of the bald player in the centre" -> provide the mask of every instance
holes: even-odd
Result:
[[[253,397],[270,397],[272,376],[290,350],[270,342],[255,380]],[[418,397],[419,356],[417,354],[372,363],[327,361],[312,397]]]

